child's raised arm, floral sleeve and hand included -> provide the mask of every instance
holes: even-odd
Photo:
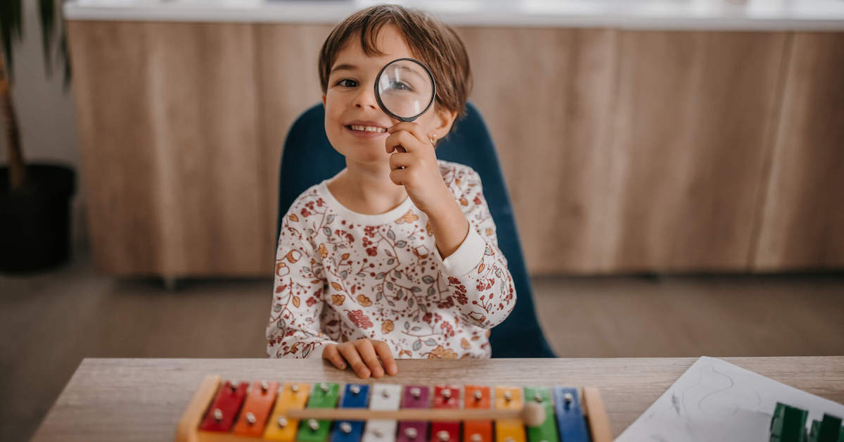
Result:
[[[498,249],[480,177],[466,169],[471,172],[445,183],[434,148],[417,123],[398,123],[387,132],[390,179],[407,189],[430,220],[437,257],[452,292],[446,303],[456,306],[468,324],[485,329],[500,324],[516,306],[516,289]]]

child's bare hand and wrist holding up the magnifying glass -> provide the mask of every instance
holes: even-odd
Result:
[[[441,210],[454,197],[442,181],[434,146],[417,123],[398,123],[387,128],[385,140],[390,156],[390,179],[404,188],[414,205],[426,214]],[[393,153],[394,152],[394,153]]]

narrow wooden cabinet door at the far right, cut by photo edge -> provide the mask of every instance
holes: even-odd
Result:
[[[756,270],[844,267],[844,34],[798,33],[771,136]]]

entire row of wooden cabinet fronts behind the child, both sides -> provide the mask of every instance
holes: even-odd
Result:
[[[331,29],[69,23],[100,270],[270,274]],[[533,274],[844,266],[844,35],[458,30]]]

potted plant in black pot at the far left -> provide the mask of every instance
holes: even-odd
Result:
[[[68,166],[26,164],[12,101],[14,44],[22,37],[24,0],[0,0],[0,114],[6,134],[7,162],[0,166],[0,271],[41,270],[68,259],[70,199],[75,174]],[[47,74],[57,47],[69,80],[63,27],[56,39],[57,3],[39,0],[41,35]]]

